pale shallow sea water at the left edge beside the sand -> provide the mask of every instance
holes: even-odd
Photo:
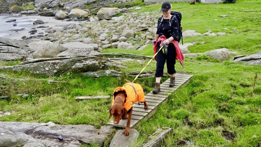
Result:
[[[6,22],[8,20],[15,19],[14,22]],[[0,15],[0,37],[4,37],[10,34],[10,32],[16,32],[21,30],[29,30],[36,18],[26,18],[13,15]],[[16,24],[16,26],[13,26]]]

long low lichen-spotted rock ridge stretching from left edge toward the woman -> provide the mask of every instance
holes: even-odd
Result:
[[[61,58],[40,58],[24,61],[14,66],[0,67],[0,71],[27,71],[36,75],[52,76],[70,71],[87,72],[107,70],[110,67],[124,67],[121,64],[97,56],[70,56]]]

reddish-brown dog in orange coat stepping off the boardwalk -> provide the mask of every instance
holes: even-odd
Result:
[[[125,119],[128,116],[128,121],[126,128],[124,130],[124,134],[126,136],[129,135],[129,127],[131,124],[131,116],[132,116],[132,105],[139,101],[144,103],[144,109],[148,110],[149,107],[145,101],[145,95],[143,92],[143,88],[140,84],[131,83],[128,80],[125,80],[128,83],[124,84],[122,87],[118,87],[113,92],[112,106],[110,107],[110,116],[113,115],[113,123],[118,124],[121,119]]]

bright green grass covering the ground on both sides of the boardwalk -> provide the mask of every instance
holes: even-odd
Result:
[[[173,9],[182,13],[182,27],[205,33],[226,32],[226,36],[198,36],[183,38],[184,43],[203,42],[189,46],[192,53],[228,48],[239,55],[260,51],[261,14],[260,11],[239,12],[240,10],[260,10],[261,1],[248,0],[236,3],[199,4],[172,3]],[[137,6],[138,7],[138,6]],[[161,8],[161,4],[141,5],[141,10],[151,12]],[[232,12],[232,13],[230,13]],[[210,13],[210,15],[209,15]],[[230,15],[227,18],[220,15]],[[214,21],[214,19],[218,19]],[[228,30],[223,30],[227,28]],[[233,30],[233,29],[236,30]],[[153,55],[152,45],[144,50],[106,49],[102,53],[132,53]],[[233,55],[234,56],[234,55]],[[139,72],[149,61],[143,63],[128,61],[122,72]],[[261,66],[234,64],[233,59],[217,61],[205,55],[186,58],[184,69],[178,62],[178,72],[193,74],[186,87],[180,87],[169,95],[169,101],[159,106],[157,112],[142,122],[137,130],[140,146],[158,128],[171,127],[174,134],[168,135],[163,147],[186,146],[259,146],[261,142]],[[0,66],[16,65],[20,61],[0,61]],[[152,62],[145,71],[155,71]],[[166,70],[166,67],[165,67]],[[0,117],[0,121],[48,122],[57,124],[88,124],[99,128],[109,122],[108,109],[111,99],[75,101],[77,96],[112,95],[114,89],[122,86],[123,79],[133,80],[123,75],[120,79],[110,77],[89,78],[80,73],[66,73],[54,77],[34,76],[29,73],[3,73],[1,76],[29,79],[15,81],[0,78],[0,111],[17,111],[13,115]],[[255,76],[258,75],[256,80]],[[168,77],[164,77],[165,81]],[[67,81],[67,83],[48,83],[48,80]],[[138,78],[145,94],[154,88],[154,78]],[[95,91],[93,90],[95,89]],[[26,93],[22,97],[16,94]],[[22,114],[22,115],[18,115]],[[230,138],[228,138],[230,136]],[[109,146],[111,138],[104,143]],[[91,144],[84,146],[96,147]]]

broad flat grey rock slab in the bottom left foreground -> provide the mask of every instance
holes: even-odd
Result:
[[[0,146],[78,147],[79,143],[102,145],[114,133],[112,126],[1,122]]]

